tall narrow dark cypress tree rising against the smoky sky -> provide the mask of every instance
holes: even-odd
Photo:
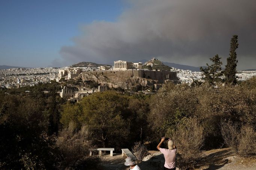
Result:
[[[225,82],[227,84],[235,85],[237,83],[236,80],[236,63],[238,60],[236,59],[236,49],[238,48],[238,36],[233,35],[230,41],[230,50],[229,57],[227,58],[227,65],[224,70]]]

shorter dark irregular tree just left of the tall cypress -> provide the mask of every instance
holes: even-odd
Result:
[[[200,67],[205,80],[211,85],[214,85],[214,82],[221,81],[220,77],[223,75],[223,72],[221,71],[222,62],[220,59],[221,58],[218,55],[215,55],[213,58],[210,58],[210,60],[213,62],[212,65],[206,64],[206,68]]]

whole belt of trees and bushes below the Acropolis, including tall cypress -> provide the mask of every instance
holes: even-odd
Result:
[[[0,169],[101,169],[89,149],[147,153],[162,136],[177,146],[179,169],[203,165],[203,151],[211,149],[255,158],[256,77],[237,82],[227,74],[237,63],[236,38],[224,76],[215,55],[202,68],[205,82],[169,82],[154,95],[109,90],[72,102],[60,98],[54,81],[1,90]]]

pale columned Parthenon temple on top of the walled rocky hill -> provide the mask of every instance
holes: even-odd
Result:
[[[142,69],[142,63],[133,63],[127,61],[114,61],[114,69],[126,70],[126,69]]]

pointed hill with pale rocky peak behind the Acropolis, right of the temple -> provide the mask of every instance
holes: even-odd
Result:
[[[172,67],[164,65],[163,62],[161,62],[156,58],[152,58],[151,60],[145,62],[142,68],[157,69],[157,70],[163,70],[163,71],[170,71],[170,69],[172,69]]]

